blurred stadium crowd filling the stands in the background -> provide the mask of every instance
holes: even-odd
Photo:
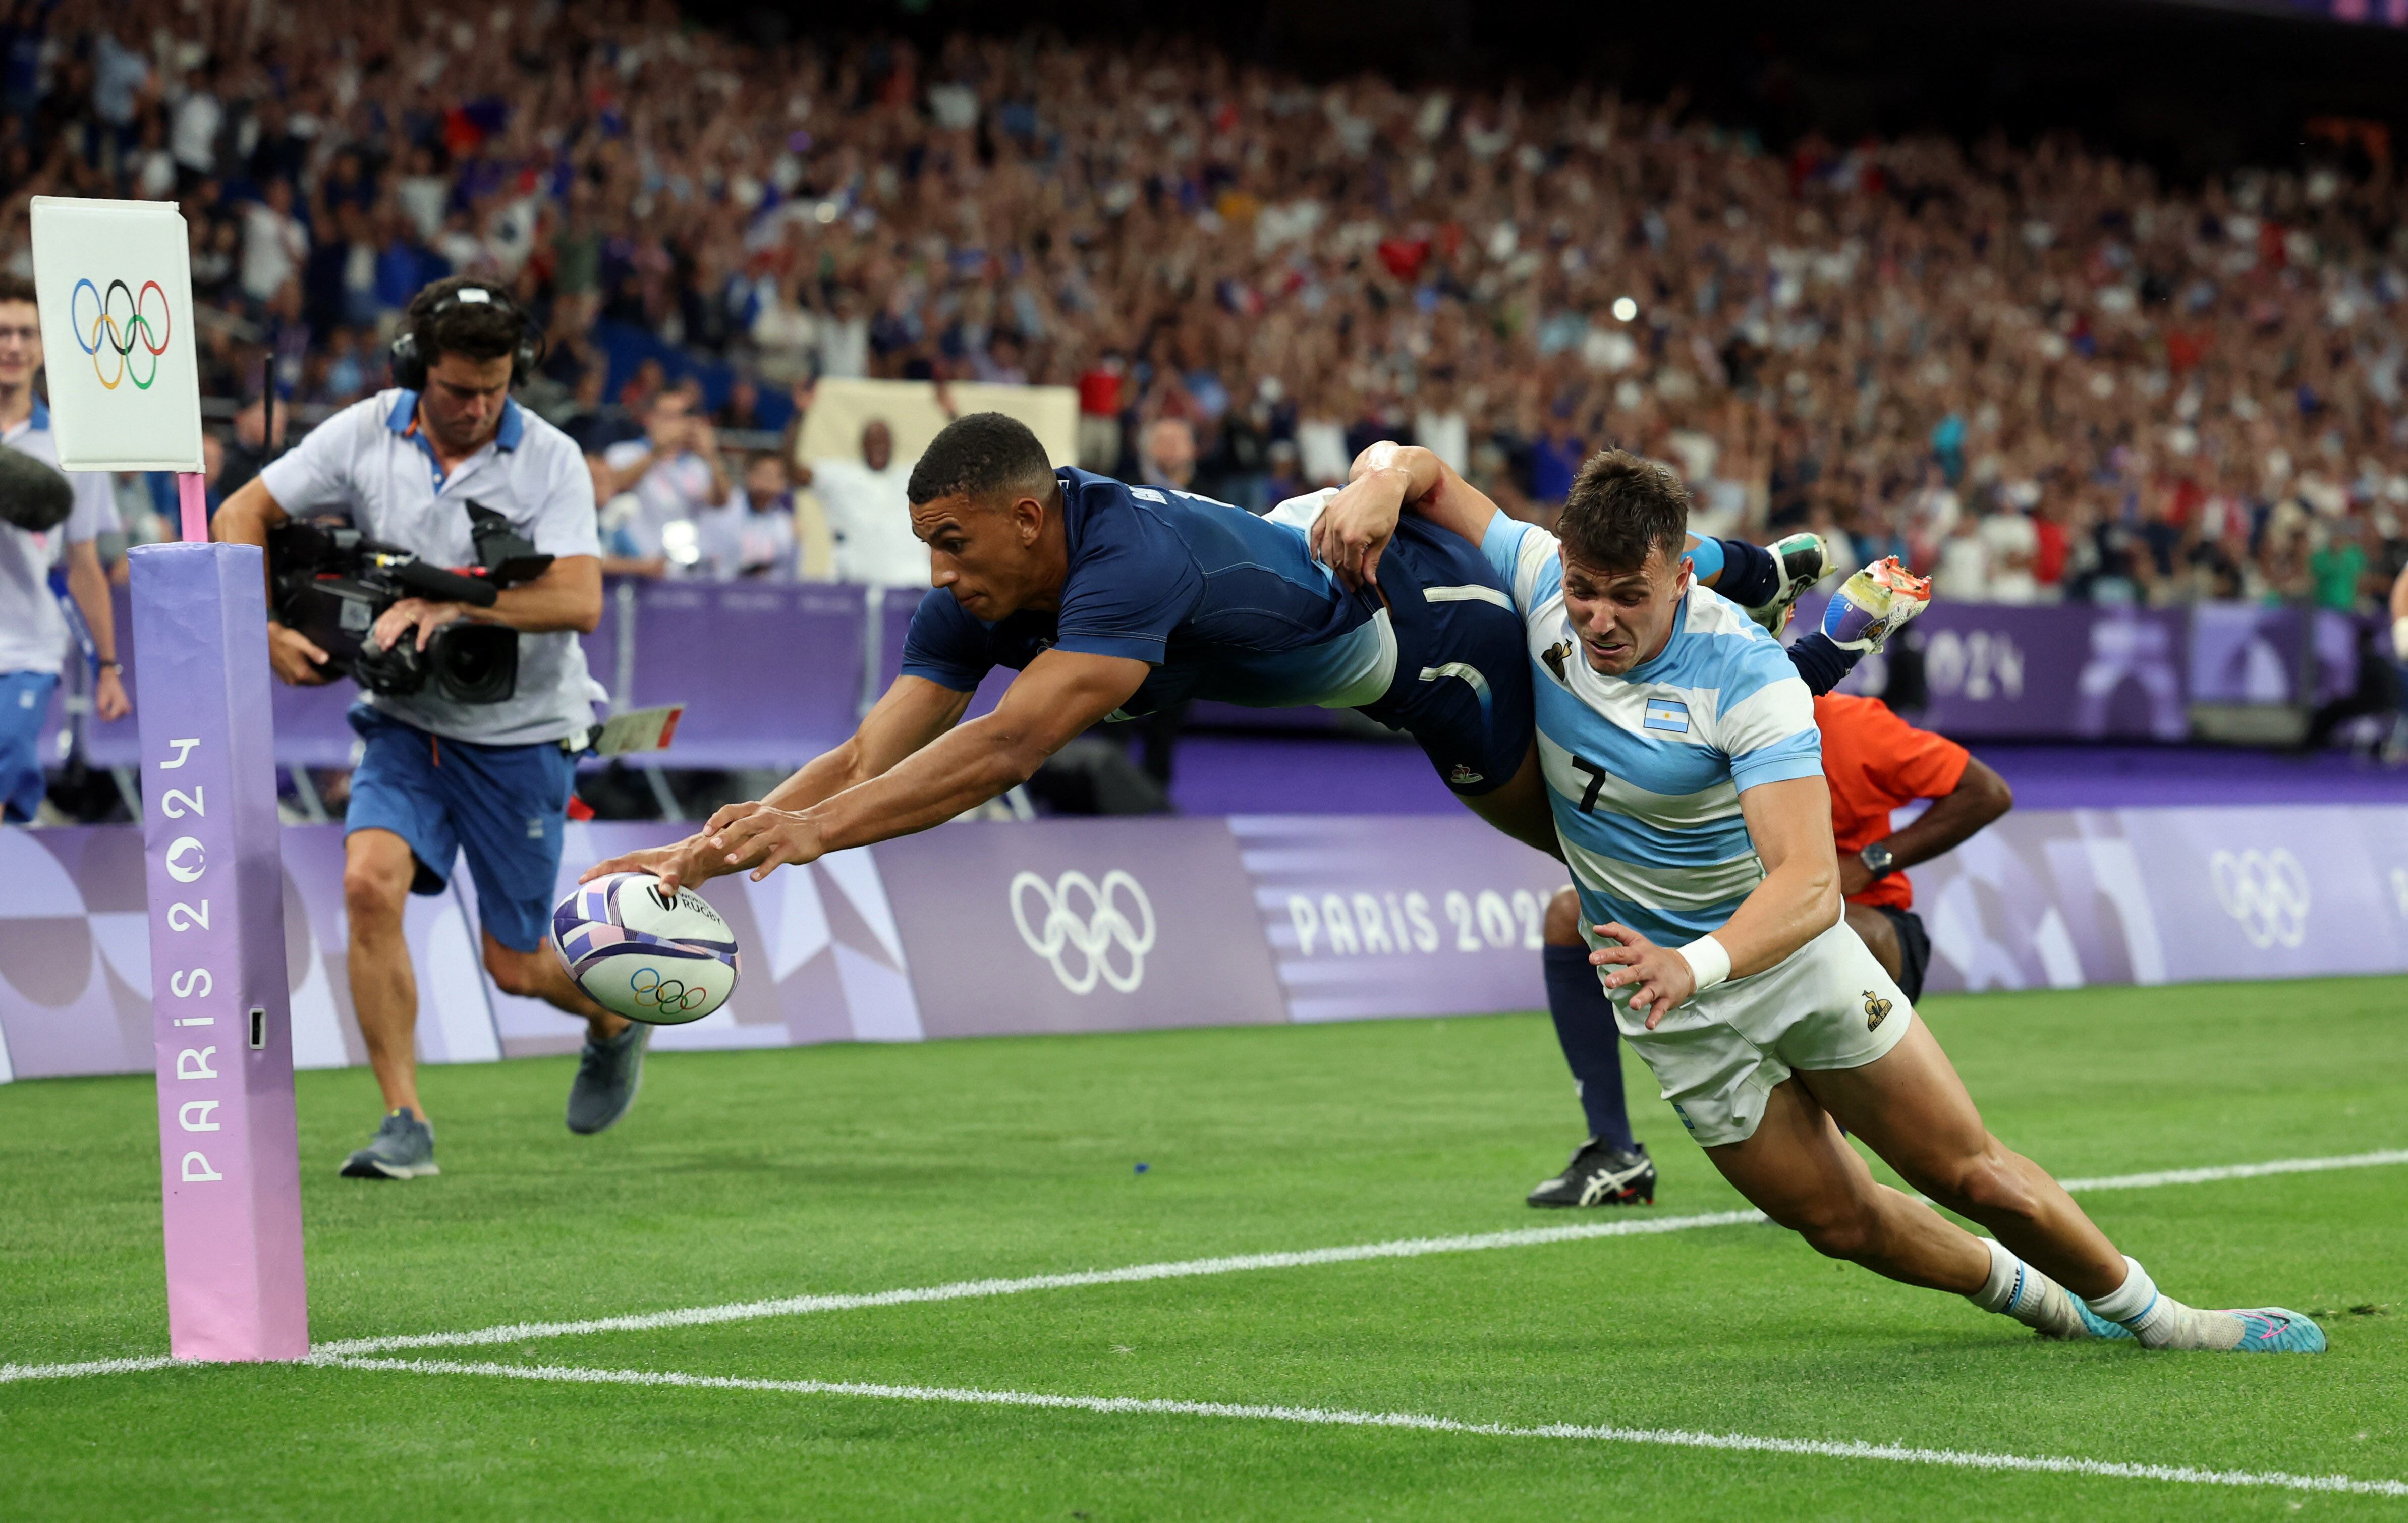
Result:
[[[14,0],[0,265],[41,192],[181,200],[219,397],[262,344],[289,402],[366,395],[417,286],[508,282],[525,399],[612,493],[691,460],[689,498],[783,503],[710,428],[819,378],[1028,380],[1076,387],[1081,464],[1257,510],[1413,438],[1541,517],[1623,443],[1700,532],[1811,525],[1958,602],[2365,609],[2408,558],[2379,137],[2174,188],[2064,137],[1775,152],[1678,99],[1185,46],[739,48],[665,0]],[[790,561],[754,532],[696,563]]]

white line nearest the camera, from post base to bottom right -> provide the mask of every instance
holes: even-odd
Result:
[[[1149,1400],[1134,1395],[1050,1395],[1040,1391],[982,1391],[963,1386],[879,1386],[867,1381],[761,1381],[710,1374],[653,1369],[585,1369],[576,1364],[486,1364],[465,1359],[323,1359],[332,1369],[373,1369],[409,1374],[472,1374],[513,1381],[561,1381],[585,1386],[677,1386],[698,1391],[773,1391],[787,1395],[862,1395],[874,1400],[961,1403],[985,1408],[1045,1408],[1149,1417],[1238,1417],[1257,1422],[1305,1422],[1327,1427],[1401,1427],[1428,1434],[1474,1434],[1491,1439],[1592,1439],[1606,1444],[1657,1444],[1669,1448],[1719,1448],[1734,1453],[1784,1453],[1830,1460],[1888,1460],[1895,1465],[1941,1465],[1950,1470],[2025,1470],[2044,1475],[2088,1475],[2102,1480],[2158,1480],[2201,1487],[2273,1487],[2285,1492],[2345,1492],[2355,1497],[2408,1497],[2401,1480],[2357,1480],[2350,1475],[2292,1475],[2288,1470],[2199,1470],[2194,1465],[2133,1465],[2126,1460],[2083,1460],[2071,1456],[1982,1453],[1963,1448],[1910,1448],[1905,1444],[1835,1444],[1830,1439],[1765,1439],[1758,1434],[1705,1434],[1666,1427],[1587,1427],[1548,1422],[1515,1427],[1505,1422],[1459,1422],[1421,1412],[1348,1412],[1344,1408],[1286,1408],[1221,1400]]]

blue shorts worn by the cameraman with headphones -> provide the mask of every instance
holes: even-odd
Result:
[[[578,758],[559,741],[448,741],[366,705],[352,710],[352,729],[366,753],[352,772],[344,835],[390,830],[409,842],[419,859],[409,893],[443,893],[465,849],[484,929],[510,950],[539,948],[551,931]]]

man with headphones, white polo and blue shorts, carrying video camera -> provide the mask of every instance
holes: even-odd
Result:
[[[508,994],[585,1018],[585,1054],[568,1090],[568,1128],[602,1131],[636,1097],[645,1025],[631,1025],[568,979],[547,929],[561,864],[576,753],[602,691],[585,676],[580,630],[602,618],[595,493],[566,433],[510,399],[532,368],[535,339],[510,298],[474,279],[419,291],[393,346],[397,380],[337,411],[301,445],[226,498],[219,539],[267,544],[291,512],[340,508],[378,541],[433,565],[470,565],[470,505],[556,556],[491,609],[405,597],[368,630],[368,645],[429,638],[458,618],[518,630],[518,688],[501,703],[455,703],[419,691],[364,693],[352,729],[364,753],[344,818],[344,912],[352,921],[352,1011],[385,1092],[385,1124],[344,1165],[352,1179],[433,1174],[433,1131],[419,1104],[417,979],[402,941],[412,893],[443,893],[465,849],[484,921],[484,965]],[[270,621],[267,654],[287,683],[323,683],[327,652]]]

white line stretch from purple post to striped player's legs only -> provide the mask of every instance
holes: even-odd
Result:
[[[395,1333],[388,1338],[347,1338],[325,1343],[313,1357],[380,1355],[402,1347],[479,1347],[489,1343],[520,1343],[525,1338],[576,1338],[583,1333],[650,1333],[657,1328],[696,1328],[725,1321],[756,1321],[763,1316],[802,1316],[811,1311],[857,1311],[862,1306],[905,1306],[917,1302],[966,1302],[980,1297],[1026,1294],[1031,1290],[1076,1290],[1084,1285],[1134,1285],[1141,1280],[1187,1280],[1197,1275],[1235,1275],[1245,1270],[1310,1268],[1317,1263],[1361,1263],[1365,1258],[1421,1258],[1426,1254],[1479,1254],[1486,1249],[1527,1249],[1536,1244],[1580,1241],[1589,1237],[1647,1237],[1657,1232],[1686,1232],[1690,1227],[1739,1227],[1763,1222],[1760,1210],[1714,1210],[1688,1217],[1623,1217],[1618,1222],[1577,1222],[1565,1227],[1522,1227],[1515,1232],[1479,1232],[1459,1237],[1404,1237],[1380,1244],[1348,1244],[1336,1249],[1296,1249],[1286,1254],[1233,1254],[1223,1258],[1180,1258],[1168,1263],[1129,1263],[1108,1270],[1074,1270],[1064,1275],[1023,1275],[1019,1280],[954,1280],[949,1285],[913,1285],[903,1290],[872,1290],[860,1294],[797,1294],[773,1302],[732,1302],[722,1306],[681,1306],[674,1311],[633,1311],[628,1316],[595,1316],[585,1321],[537,1321],[501,1328],[474,1328],[470,1333]]]

